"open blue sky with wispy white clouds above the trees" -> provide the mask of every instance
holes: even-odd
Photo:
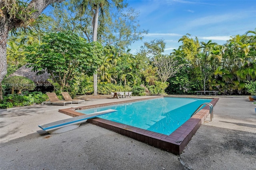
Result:
[[[256,28],[256,0],[127,0],[140,12],[140,29],[149,30],[142,41],[130,46],[131,53],[154,39],[163,39],[171,53],[188,34],[200,42],[223,45],[230,36]]]

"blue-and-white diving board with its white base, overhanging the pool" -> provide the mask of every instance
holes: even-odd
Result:
[[[67,132],[69,130],[73,130],[78,128],[81,123],[86,122],[87,119],[91,119],[97,116],[105,115],[108,113],[116,112],[117,110],[108,109],[105,111],[95,112],[87,115],[82,115],[78,117],[72,117],[52,123],[47,123],[44,125],[38,125],[42,130],[47,131],[50,134],[62,133]]]

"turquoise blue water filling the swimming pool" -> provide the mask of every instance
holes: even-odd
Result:
[[[202,103],[210,101],[212,99],[162,97],[76,111],[90,114],[115,109],[118,111],[99,116],[99,118],[170,135],[190,119]]]

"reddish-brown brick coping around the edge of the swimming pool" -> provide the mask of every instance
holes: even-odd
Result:
[[[150,99],[156,99],[163,96],[156,96]],[[186,98],[196,98],[196,97],[186,97]],[[209,98],[207,98],[209,99]],[[90,109],[95,107],[103,107],[108,105],[116,105],[120,103],[128,103],[134,101],[141,101],[148,99],[136,99],[130,101],[122,101],[122,102],[113,102],[113,103],[105,103],[99,105],[89,105],[82,107],[74,107],[69,109],[60,109],[60,113],[64,113],[66,115],[70,115],[72,117],[82,116],[84,114],[76,112],[76,110],[82,109]],[[212,98],[210,102],[213,106],[217,103],[219,98]],[[186,121],[183,125],[177,128],[172,134],[166,135],[157,132],[152,132],[149,130],[144,130],[137,127],[132,127],[129,125],[124,125],[121,123],[116,123],[113,121],[108,121],[101,118],[88,119],[87,122],[92,123],[94,125],[113,130],[119,134],[123,134],[130,138],[134,138],[156,148],[160,148],[162,150],[166,150],[173,154],[181,154],[182,150],[184,150],[185,146],[188,144],[192,136],[196,133],[196,130],[202,125],[206,117],[209,115],[209,107],[205,106],[200,111],[198,111],[194,116],[192,116],[188,121]]]

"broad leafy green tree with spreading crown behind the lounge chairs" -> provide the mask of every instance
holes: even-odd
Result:
[[[68,86],[74,76],[94,73],[101,65],[103,55],[100,44],[87,43],[70,32],[46,34],[41,45],[31,45],[26,49],[28,67],[33,67],[32,71],[38,74],[50,73],[60,83],[60,90]]]

